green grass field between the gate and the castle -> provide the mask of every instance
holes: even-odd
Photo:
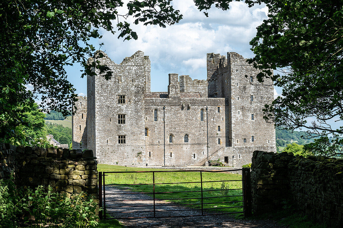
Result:
[[[149,169],[149,168],[132,168],[114,165],[98,164],[98,171],[157,171],[165,169]],[[138,184],[130,185],[134,192],[152,192],[153,185],[139,185],[143,183],[153,183],[152,173],[108,173],[105,177],[106,184]],[[203,183],[203,208],[210,209],[208,213],[213,212],[239,212],[242,211],[242,207],[236,208],[222,208],[231,206],[243,206],[242,190],[229,190],[229,189],[241,189],[242,176],[232,173],[210,173],[202,172],[203,181],[218,181]],[[227,181],[238,180],[238,181]],[[177,192],[177,191],[201,191],[200,183],[180,183],[180,182],[199,182],[200,172],[156,172],[155,183],[167,183],[167,184],[155,184],[155,197],[156,199],[168,199],[168,202],[175,202],[177,204],[191,204],[197,203],[197,205],[185,205],[191,208],[201,208],[201,199],[187,199],[187,198],[200,198],[201,192]],[[170,184],[178,182],[178,184]],[[124,187],[122,187],[124,188]],[[127,188],[127,187],[125,187]],[[217,191],[212,191],[217,190]],[[158,192],[176,192],[176,193],[158,193]],[[150,194],[152,195],[152,194]],[[230,197],[226,197],[230,196]],[[176,200],[176,199],[183,200]],[[186,198],[186,199],[185,199]],[[227,203],[230,201],[229,203]]]

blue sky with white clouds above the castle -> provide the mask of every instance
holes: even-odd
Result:
[[[213,8],[209,17],[194,6],[192,0],[174,0],[175,9],[184,15],[180,23],[161,28],[159,26],[133,25],[138,40],[123,41],[106,31],[100,31],[104,43],[100,48],[116,63],[141,50],[151,60],[151,91],[167,91],[168,73],[190,75],[192,79],[206,79],[206,53],[226,55],[235,51],[245,58],[253,57],[249,41],[256,34],[256,27],[267,19],[265,5],[248,8],[243,2],[230,3],[230,10]],[[125,12],[125,8],[121,9]],[[130,22],[130,21],[129,21]],[[87,94],[86,78],[82,79],[81,66],[67,68],[68,79],[81,96]],[[276,88],[275,94],[281,93]]]

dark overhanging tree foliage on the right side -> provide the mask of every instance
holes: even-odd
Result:
[[[234,0],[195,0],[199,10],[212,5],[223,10]],[[307,129],[304,139],[335,134],[337,143],[343,126],[343,1],[245,0],[252,7],[265,3],[268,19],[257,27],[250,41],[255,57],[247,60],[283,88],[282,96],[264,108],[267,121],[286,130]],[[270,69],[280,73],[273,75]],[[311,119],[313,121],[308,122]],[[339,122],[341,123],[341,122]],[[326,141],[315,141],[319,147]],[[327,144],[327,147],[332,145]]]

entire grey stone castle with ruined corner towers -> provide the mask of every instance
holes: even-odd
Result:
[[[102,54],[97,61],[113,75],[87,77],[87,97],[78,97],[72,117],[73,148],[92,149],[99,163],[185,166],[220,159],[240,167],[255,150],[276,151],[274,125],[262,112],[274,99],[273,83],[259,83],[258,71],[237,53],[208,53],[207,80],[169,74],[168,92],[150,91],[150,60],[142,51],[120,64]]]

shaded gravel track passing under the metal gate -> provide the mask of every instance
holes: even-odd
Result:
[[[107,195],[107,193],[119,193],[119,192],[131,192],[130,189],[122,190],[114,187],[106,187],[106,201],[118,200],[117,202],[106,202],[107,206],[135,206],[135,207],[119,207],[108,208],[106,213],[111,217],[142,217],[153,216],[153,212],[138,212],[138,211],[152,211],[153,210],[153,198],[146,194],[113,194]],[[134,201],[125,201],[134,200]],[[146,200],[146,201],[143,201]],[[181,210],[190,209],[183,206],[172,206],[173,202],[166,202],[163,200],[155,201],[156,210]],[[168,205],[169,204],[169,205]],[[147,206],[143,206],[147,205]],[[113,213],[113,212],[131,212],[131,213]],[[178,215],[197,215],[201,214],[201,210],[189,210],[189,211],[174,211],[174,212],[156,212],[156,216],[178,216]],[[194,216],[194,217],[175,217],[175,218],[134,218],[134,219],[118,219],[120,223],[126,227],[142,227],[142,228],[191,228],[191,227],[205,227],[205,228],[220,228],[220,227],[282,227],[272,221],[246,221],[237,220],[229,215],[208,215],[208,216]]]

